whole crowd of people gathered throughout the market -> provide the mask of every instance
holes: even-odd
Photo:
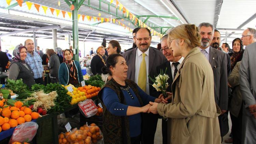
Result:
[[[228,113],[232,134],[225,142],[256,143],[255,29],[244,30],[232,49],[221,45],[221,34],[210,23],[174,27],[158,48],[151,47],[149,29],[136,28],[132,35],[133,46],[123,54],[116,40],[90,51],[91,72],[105,82],[98,94],[105,143],[153,144],[162,118],[163,144],[219,144],[227,134],[223,119]],[[0,57],[4,71],[12,56],[0,51]],[[77,86],[83,81],[72,46],[43,54],[40,47],[34,51],[30,39],[15,47],[8,78],[22,79],[28,87],[44,84],[44,66],[51,83]],[[167,98],[148,78],[165,69]]]

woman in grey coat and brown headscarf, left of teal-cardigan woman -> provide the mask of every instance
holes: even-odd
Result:
[[[46,54],[49,57],[49,70],[50,70],[50,78],[51,83],[58,83],[59,82],[59,57],[55,54],[53,49],[48,49]]]

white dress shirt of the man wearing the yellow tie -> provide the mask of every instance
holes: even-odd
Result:
[[[144,53],[146,54],[145,56],[145,61],[146,61],[146,93],[149,95],[149,84],[148,84],[148,63],[149,63],[149,49],[147,49],[147,51]],[[136,60],[135,60],[135,76],[134,76],[134,81],[136,84],[138,84],[138,77],[139,77],[139,72],[140,72],[140,64],[142,61],[142,52],[139,50],[139,48],[137,48],[136,50]],[[152,63],[153,64],[153,63]],[[129,68],[128,68],[129,69]],[[154,78],[154,77],[152,77]]]

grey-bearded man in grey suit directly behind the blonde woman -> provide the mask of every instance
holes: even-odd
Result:
[[[227,55],[216,48],[210,47],[214,34],[212,24],[201,23],[198,28],[201,35],[201,53],[208,59],[213,70],[215,102],[220,107],[221,114],[224,114],[228,109]]]

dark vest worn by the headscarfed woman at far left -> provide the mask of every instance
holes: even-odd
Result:
[[[28,67],[28,69],[27,69],[21,62],[17,62],[17,61],[12,61],[10,66],[13,63],[16,63],[20,69],[17,80],[22,79],[23,83],[26,84],[29,88],[31,88],[31,86],[33,84],[35,84],[35,81],[34,81],[34,73],[33,73],[32,69],[30,68],[30,66],[26,63],[26,65]]]

